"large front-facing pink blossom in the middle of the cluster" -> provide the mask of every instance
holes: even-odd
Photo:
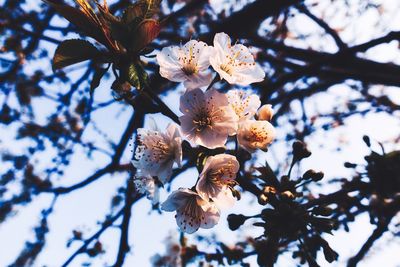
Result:
[[[238,117],[225,94],[211,89],[186,91],[180,99],[179,118],[183,135],[191,142],[208,148],[225,145],[237,130]]]

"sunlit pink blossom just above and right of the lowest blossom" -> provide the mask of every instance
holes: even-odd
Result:
[[[239,162],[235,156],[211,156],[200,173],[196,191],[204,199],[211,198],[218,208],[231,207],[235,203],[231,189],[237,184],[235,179],[238,171]]]

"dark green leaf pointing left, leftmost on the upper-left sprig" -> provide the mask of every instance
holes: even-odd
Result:
[[[56,49],[53,57],[53,71],[75,63],[94,59],[101,55],[101,52],[91,43],[85,40],[66,40]]]

